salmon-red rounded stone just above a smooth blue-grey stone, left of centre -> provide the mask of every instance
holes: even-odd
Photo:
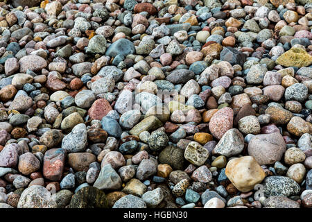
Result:
[[[112,110],[112,106],[106,99],[97,99],[89,108],[88,114],[90,119],[101,120]]]

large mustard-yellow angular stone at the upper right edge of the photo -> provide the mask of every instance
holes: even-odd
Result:
[[[275,62],[284,67],[309,67],[312,64],[312,56],[302,48],[293,47],[281,54]]]

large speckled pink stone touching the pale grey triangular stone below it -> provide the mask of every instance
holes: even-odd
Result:
[[[216,112],[210,119],[209,130],[217,139],[221,139],[227,130],[233,128],[234,112],[231,108],[225,107]]]

